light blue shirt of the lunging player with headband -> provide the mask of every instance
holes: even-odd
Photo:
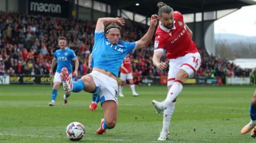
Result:
[[[119,41],[116,45],[113,45],[104,36],[103,30],[95,31],[92,49],[92,68],[109,71],[117,77],[124,57],[133,52],[136,46],[136,42],[126,43],[124,41]]]

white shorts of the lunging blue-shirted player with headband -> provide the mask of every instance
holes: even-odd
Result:
[[[106,100],[114,100],[118,104],[117,81],[98,71],[92,71],[90,75],[92,75],[96,88],[99,88],[100,103],[102,104]]]

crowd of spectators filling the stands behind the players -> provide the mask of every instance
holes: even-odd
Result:
[[[90,72],[88,56],[94,42],[95,22],[58,19],[47,16],[30,16],[15,12],[0,13],[0,74],[49,74],[51,61],[59,36],[68,39],[68,46],[79,59],[79,74]],[[122,30],[122,40],[136,41],[147,26],[128,22]],[[167,75],[167,70],[158,71],[152,64],[153,40],[148,48],[130,55],[134,77]],[[241,69],[228,59],[210,56],[203,49],[202,65],[196,76],[204,77],[255,77],[256,71]],[[165,61],[166,59],[162,59]]]

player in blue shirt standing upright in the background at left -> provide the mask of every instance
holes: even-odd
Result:
[[[53,88],[52,88],[52,99],[51,102],[49,103],[49,106],[54,106],[55,104],[55,99],[58,95],[58,89],[60,87],[61,83],[61,78],[60,78],[60,72],[63,67],[67,68],[68,76],[70,79],[72,79],[72,62],[75,62],[75,71],[74,71],[74,76],[77,77],[78,73],[78,66],[79,62],[76,57],[76,54],[73,50],[69,49],[67,46],[67,39],[65,37],[59,37],[58,38],[58,45],[60,49],[55,51],[54,58],[52,60],[52,66],[50,69],[50,75],[53,75],[53,68],[57,64],[57,69],[54,75],[54,80],[53,80]],[[70,92],[66,92],[64,95],[64,101],[63,105],[66,105],[68,103],[67,98],[70,96]]]

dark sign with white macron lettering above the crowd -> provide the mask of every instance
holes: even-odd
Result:
[[[68,1],[45,1],[29,0],[28,14],[32,15],[50,15],[54,17],[67,18],[69,12]]]

